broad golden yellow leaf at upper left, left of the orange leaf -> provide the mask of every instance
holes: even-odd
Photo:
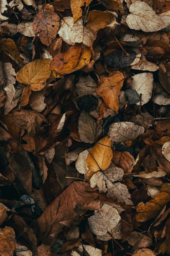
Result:
[[[20,83],[30,85],[31,90],[42,90],[45,87],[46,79],[50,75],[50,60],[38,59],[20,69],[16,78]]]

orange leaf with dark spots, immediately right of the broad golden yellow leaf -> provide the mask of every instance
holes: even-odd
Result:
[[[51,70],[54,71],[54,77],[61,77],[71,73],[79,61],[80,52],[80,44],[75,44],[66,52],[59,52],[55,55],[51,61]]]

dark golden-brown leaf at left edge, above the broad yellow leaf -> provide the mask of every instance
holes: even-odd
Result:
[[[23,59],[20,57],[20,51],[15,42],[11,38],[3,38],[0,40],[1,49],[20,67],[23,67]]]

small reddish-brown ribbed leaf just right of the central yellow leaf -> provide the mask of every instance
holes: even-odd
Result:
[[[132,172],[135,164],[133,156],[127,151],[114,151],[112,161],[116,166],[122,168],[126,173]]]

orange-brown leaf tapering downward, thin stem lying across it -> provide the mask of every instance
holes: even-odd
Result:
[[[100,79],[100,84],[97,87],[97,89],[101,88],[100,90],[97,90],[97,94],[103,98],[109,108],[116,112],[119,110],[119,94],[123,81],[123,74],[116,71],[112,76],[102,77]]]

